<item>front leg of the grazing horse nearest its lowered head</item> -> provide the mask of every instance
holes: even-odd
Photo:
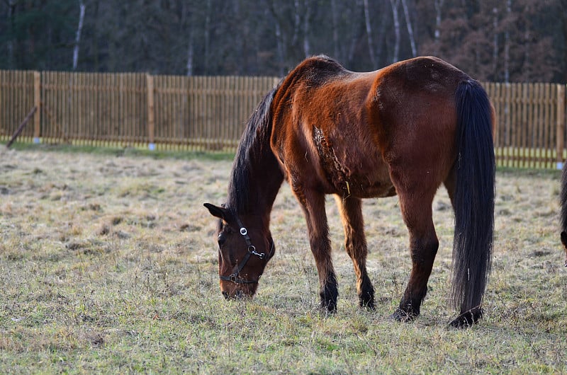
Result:
[[[332,265],[329,226],[325,212],[325,195],[313,190],[304,191],[293,187],[293,192],[303,207],[309,235],[309,244],[319,275],[321,307],[334,313],[337,311],[337,276]]]

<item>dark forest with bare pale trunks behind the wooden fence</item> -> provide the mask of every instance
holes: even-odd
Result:
[[[0,69],[283,76],[433,54],[481,81],[567,82],[567,0],[2,0]]]

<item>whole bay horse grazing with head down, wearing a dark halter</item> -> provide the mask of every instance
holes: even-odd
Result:
[[[337,197],[345,248],[361,306],[374,308],[366,272],[361,199],[398,195],[410,234],[412,270],[398,321],[420,313],[439,247],[432,200],[441,184],[454,207],[451,325],[481,318],[493,243],[494,110],[481,85],[435,57],[370,73],[325,56],[305,59],[270,91],[249,119],[237,150],[228,200],[206,203],[218,221],[220,289],[252,296],[274,255],[270,212],[288,180],[303,208],[323,308],[335,311],[325,195]]]

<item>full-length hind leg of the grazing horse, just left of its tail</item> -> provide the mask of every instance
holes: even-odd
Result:
[[[392,317],[398,321],[412,321],[420,315],[420,306],[427,294],[439,240],[432,219],[434,190],[418,189],[408,192],[398,189],[400,209],[410,234],[412,270],[399,307]]]

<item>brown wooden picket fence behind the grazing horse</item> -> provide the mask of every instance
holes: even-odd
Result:
[[[25,142],[235,151],[276,77],[0,71],[0,141],[36,107]],[[556,168],[566,158],[565,85],[483,83],[498,116],[500,166]]]

